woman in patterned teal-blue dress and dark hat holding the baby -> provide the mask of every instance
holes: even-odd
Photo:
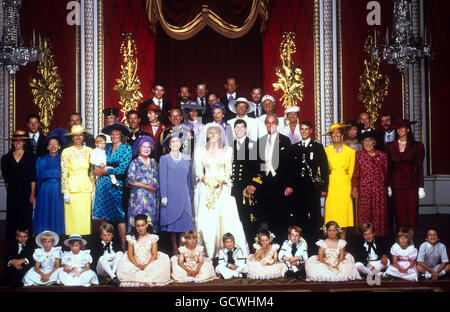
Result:
[[[95,190],[93,218],[117,223],[117,229],[122,244],[122,250],[126,250],[126,220],[122,208],[123,186],[126,171],[133,157],[131,146],[123,142],[128,138],[129,130],[121,123],[114,123],[103,128],[102,133],[111,137],[112,144],[107,144],[106,165],[113,168],[95,168],[94,173],[98,176]],[[109,175],[116,176],[119,186],[111,183]]]

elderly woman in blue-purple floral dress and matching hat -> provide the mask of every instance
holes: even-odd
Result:
[[[159,231],[159,174],[158,163],[150,158],[155,140],[140,136],[133,145],[137,156],[128,168],[127,183],[131,188],[128,203],[128,230],[133,227],[134,217],[145,214],[150,217],[153,231]]]

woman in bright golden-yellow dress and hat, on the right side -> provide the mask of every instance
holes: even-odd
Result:
[[[345,239],[345,228],[354,225],[351,179],[355,167],[355,150],[344,145],[344,128],[347,126],[345,123],[335,124],[325,133],[331,135],[333,142],[325,148],[330,167],[325,224],[329,221],[337,222],[343,229],[341,239]]]

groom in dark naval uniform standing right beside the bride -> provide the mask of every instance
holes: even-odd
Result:
[[[258,181],[261,180],[261,178],[258,179],[258,148],[256,142],[246,136],[247,123],[245,120],[240,119],[235,122],[234,132],[237,139],[233,141],[231,195],[236,198],[239,218],[247,242],[252,242],[258,232],[258,211],[255,199],[249,196],[249,191],[254,193],[256,186],[259,185]]]

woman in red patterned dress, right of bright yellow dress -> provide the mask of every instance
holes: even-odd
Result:
[[[352,196],[358,198],[358,225],[370,222],[376,236],[389,234],[386,200],[387,156],[375,149],[375,132],[362,136],[363,149],[356,153]]]

